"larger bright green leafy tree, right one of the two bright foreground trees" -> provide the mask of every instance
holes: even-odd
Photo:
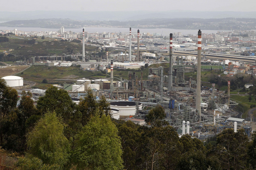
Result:
[[[110,116],[98,114],[77,135],[74,162],[79,169],[123,169],[120,137]]]

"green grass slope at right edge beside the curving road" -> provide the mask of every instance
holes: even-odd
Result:
[[[244,113],[247,113],[250,108],[251,105],[255,104],[256,105],[256,101],[255,99],[252,97],[251,102],[249,102],[248,99],[249,95],[246,96],[240,96],[240,95],[231,95],[230,98],[231,99],[235,99],[237,101],[241,101],[242,103],[239,104],[240,108],[244,109]],[[242,118],[246,118],[246,114],[242,115]]]

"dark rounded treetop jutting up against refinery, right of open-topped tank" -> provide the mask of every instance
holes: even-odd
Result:
[[[164,108],[161,105],[157,105],[148,112],[145,122],[151,126],[162,126],[166,124],[165,116]]]

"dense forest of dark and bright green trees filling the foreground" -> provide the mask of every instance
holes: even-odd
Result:
[[[16,103],[20,97],[20,103]],[[15,170],[253,170],[256,134],[225,129],[204,145],[167,125],[158,105],[147,126],[110,117],[110,105],[88,90],[78,105],[50,87],[34,105],[32,94],[0,78],[1,169]],[[15,160],[3,165],[3,158]]]

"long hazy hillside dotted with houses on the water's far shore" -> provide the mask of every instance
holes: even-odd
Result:
[[[0,23],[6,27],[41,27],[41,28],[80,28],[80,27],[140,27],[140,28],[172,28],[172,29],[205,29],[205,30],[250,30],[255,29],[255,18],[157,18],[137,21],[92,21],[72,19],[36,19],[14,20]]]

